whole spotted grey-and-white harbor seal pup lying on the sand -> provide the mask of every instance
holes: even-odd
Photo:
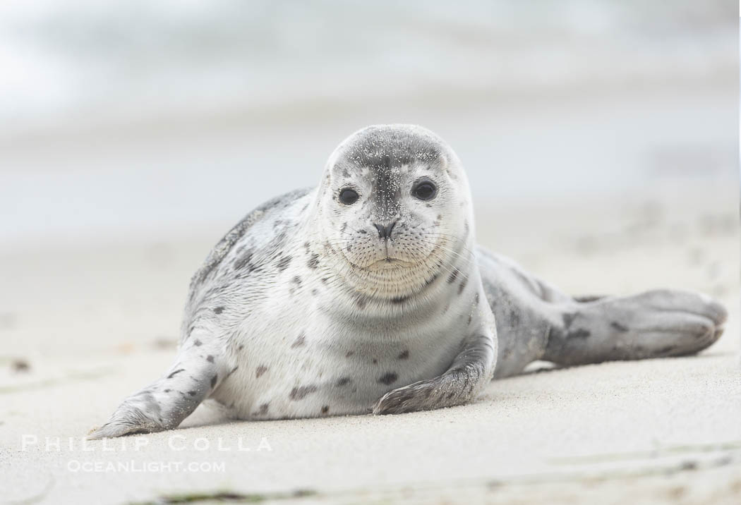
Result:
[[[462,165],[422,127],[367,127],[319,187],[257,207],[190,284],[173,366],[91,438],[177,427],[206,398],[239,419],[465,404],[531,361],[688,355],[725,309],[669,290],[573,298],[476,245]]]

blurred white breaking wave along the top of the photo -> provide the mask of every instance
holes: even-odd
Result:
[[[9,1],[0,4],[0,121],[727,78],[737,67],[733,7]]]

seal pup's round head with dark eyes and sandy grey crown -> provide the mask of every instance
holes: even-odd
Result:
[[[330,156],[319,188],[324,247],[353,289],[408,297],[471,261],[471,197],[453,150],[422,127],[371,126]]]

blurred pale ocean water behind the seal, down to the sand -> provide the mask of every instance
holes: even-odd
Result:
[[[738,193],[738,41],[719,0],[4,1],[2,244],[218,238],[374,123],[448,140],[479,213]]]

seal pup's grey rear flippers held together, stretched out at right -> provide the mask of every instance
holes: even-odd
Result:
[[[690,355],[714,344],[728,318],[700,293],[656,290],[565,304],[542,359],[562,365]]]

